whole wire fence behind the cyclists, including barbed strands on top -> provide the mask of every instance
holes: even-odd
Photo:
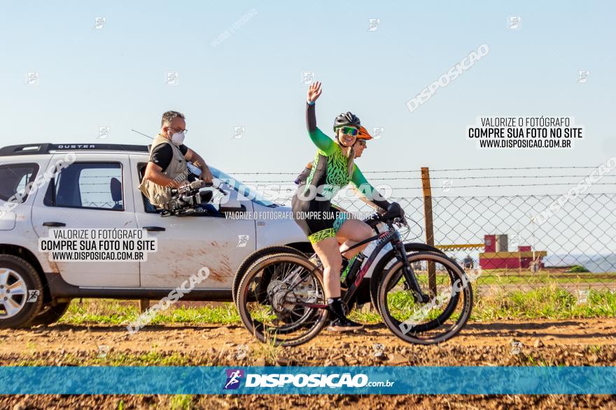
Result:
[[[575,175],[554,175],[554,168],[571,169]],[[424,195],[421,195],[422,181],[419,175],[405,177],[402,174],[418,173],[419,170],[398,173],[379,171],[368,179],[374,186],[379,184],[379,180],[387,180],[392,189],[391,200],[400,203],[405,209],[411,225],[405,242],[429,243],[426,221],[430,224],[430,218],[426,219],[424,205],[426,200],[430,201],[434,245],[465,268],[481,268],[481,276],[476,284],[479,291],[528,291],[556,284],[583,298],[590,289],[616,290],[616,193],[590,193],[594,189],[605,191],[605,186],[613,188],[616,184],[603,180],[594,184],[602,185],[601,188],[591,186],[592,189],[587,189],[588,193],[577,193],[575,196],[563,194],[570,186],[575,186],[580,177],[584,177],[583,174],[577,175],[584,168],[594,169],[489,168],[489,173],[480,168],[444,170],[449,171],[449,175],[454,171],[455,175],[431,178],[433,186],[437,187],[433,190],[440,191],[436,196],[430,191],[426,195],[425,189]],[[512,169],[545,172],[534,171],[535,175],[531,176],[510,175]],[[507,175],[499,177],[494,175],[494,170],[505,170]],[[261,178],[256,176],[251,174],[246,179],[257,187],[264,183],[284,182],[283,178],[275,180],[271,174]],[[465,192],[474,190],[473,193],[476,191],[477,195],[455,196],[456,186],[453,186],[451,180],[482,178],[500,180],[496,184],[490,181],[489,184],[481,185],[465,182],[457,188],[463,188]],[[517,184],[515,178],[527,179]],[[534,193],[507,194],[507,191],[513,191],[515,187],[523,192]],[[556,190],[557,193],[542,193],[550,190]],[[481,195],[486,191],[504,193]],[[276,198],[276,202],[290,203],[292,194],[288,194],[288,189],[286,192],[286,195]],[[372,212],[367,204],[349,195],[339,195],[333,202],[357,217],[365,217]]]

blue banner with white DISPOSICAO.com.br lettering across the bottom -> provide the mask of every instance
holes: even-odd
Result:
[[[0,394],[616,394],[616,367],[0,367]]]

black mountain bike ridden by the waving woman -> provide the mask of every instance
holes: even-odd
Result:
[[[385,325],[400,339],[415,344],[437,344],[457,335],[472,311],[472,288],[465,272],[437,249],[426,246],[423,249],[430,250],[409,253],[409,244],[402,242],[398,231],[408,228],[401,208],[373,214],[366,222],[376,234],[349,249],[372,241],[374,247],[346,274],[344,304],[368,280],[365,274],[389,244],[391,251],[381,258],[370,279],[377,284],[374,302]],[[381,222],[386,228],[378,228]],[[329,316],[318,257],[282,252],[259,258],[239,281],[236,305],[244,326],[261,342],[279,346],[308,342]]]

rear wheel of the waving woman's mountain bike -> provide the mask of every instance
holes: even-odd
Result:
[[[242,323],[261,342],[296,346],[318,335],[328,319],[321,270],[296,254],[262,258],[237,289]]]

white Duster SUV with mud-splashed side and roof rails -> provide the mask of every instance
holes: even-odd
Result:
[[[70,165],[45,178],[49,167],[68,154]],[[292,219],[258,218],[290,209],[258,193],[248,195],[240,182],[230,187],[225,210],[218,210],[255,217],[161,217],[137,189],[147,162],[146,145],[45,143],[0,149],[0,328],[53,323],[72,298],[160,299],[202,267],[209,268],[208,279],[183,300],[232,300],[235,272],[256,249],[311,250]],[[221,180],[228,177],[211,170]],[[23,195],[29,183],[36,189]],[[158,239],[158,251],[145,262],[52,262],[38,251],[38,240],[53,227],[146,229]]]

